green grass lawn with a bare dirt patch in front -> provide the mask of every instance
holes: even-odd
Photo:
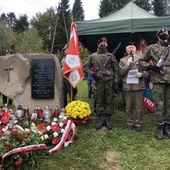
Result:
[[[87,98],[87,82],[78,86],[77,100],[93,105]],[[113,129],[95,130],[96,117],[78,125],[75,143],[42,158],[37,170],[169,170],[170,139],[155,138],[155,116],[143,114],[143,131],[128,130],[120,96],[114,99]]]

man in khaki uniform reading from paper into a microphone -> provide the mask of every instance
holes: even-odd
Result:
[[[126,102],[126,123],[128,129],[132,130],[135,128],[137,132],[140,132],[142,131],[143,123],[143,91],[145,89],[145,78],[148,76],[148,73],[142,71],[142,65],[140,64],[142,54],[136,52],[136,44],[134,42],[129,42],[126,45],[126,52],[127,54],[119,62],[119,73],[123,79],[122,90]],[[135,106],[135,109],[132,106]]]

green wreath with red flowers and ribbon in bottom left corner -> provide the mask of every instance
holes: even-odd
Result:
[[[37,168],[41,163],[39,157],[45,154],[40,150],[47,148],[41,141],[41,134],[28,128],[3,130],[4,134],[0,138],[0,165],[8,170],[22,169],[28,165],[32,169]]]

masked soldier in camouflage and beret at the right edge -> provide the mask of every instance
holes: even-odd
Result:
[[[169,37],[166,27],[158,30],[156,37],[158,42],[148,46],[144,53],[144,59],[152,64],[147,64],[147,69],[151,70],[151,81],[153,83],[153,100],[156,104],[156,123],[158,129],[156,138],[163,139],[163,134],[170,138],[170,52],[165,57],[161,67],[157,65],[163,51],[169,45]]]

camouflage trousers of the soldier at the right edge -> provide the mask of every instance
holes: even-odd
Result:
[[[153,85],[157,124],[170,123],[170,84]]]

